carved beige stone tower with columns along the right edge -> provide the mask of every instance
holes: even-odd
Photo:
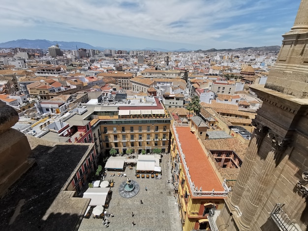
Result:
[[[219,230],[308,230],[308,0],[283,35],[231,197],[216,220]]]

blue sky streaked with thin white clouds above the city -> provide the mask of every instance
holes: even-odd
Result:
[[[300,0],[1,0],[0,43],[77,41],[115,49],[281,45]]]

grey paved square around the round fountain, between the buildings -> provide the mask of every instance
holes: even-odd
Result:
[[[181,219],[176,199],[173,196],[173,186],[167,183],[171,177],[169,161],[169,155],[163,154],[161,179],[151,178],[151,176],[150,178],[137,178],[135,176],[136,167],[132,170],[126,167],[123,173],[137,181],[140,186],[139,193],[132,198],[123,198],[118,191],[119,185],[127,177],[118,176],[118,172],[107,172],[106,179],[113,179],[115,183],[111,188],[112,199],[106,210],[113,213],[114,217],[108,218],[109,227],[103,225],[103,219],[84,218],[79,231],[181,231]],[[110,173],[116,174],[110,176]],[[134,226],[132,222],[135,223]]]

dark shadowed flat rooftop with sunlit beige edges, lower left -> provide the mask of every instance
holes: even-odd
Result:
[[[93,144],[27,138],[35,163],[1,198],[0,230],[73,231],[89,200],[73,198],[63,186]]]

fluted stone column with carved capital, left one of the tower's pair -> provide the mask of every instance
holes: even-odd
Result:
[[[262,143],[262,140],[268,131],[267,127],[263,126],[254,119],[252,120],[251,124],[256,128],[254,129],[253,137],[248,145],[239,177],[236,180],[236,184],[233,188],[230,201],[233,206],[237,206],[242,198],[246,182],[250,178],[251,169],[258,154],[258,146]]]

